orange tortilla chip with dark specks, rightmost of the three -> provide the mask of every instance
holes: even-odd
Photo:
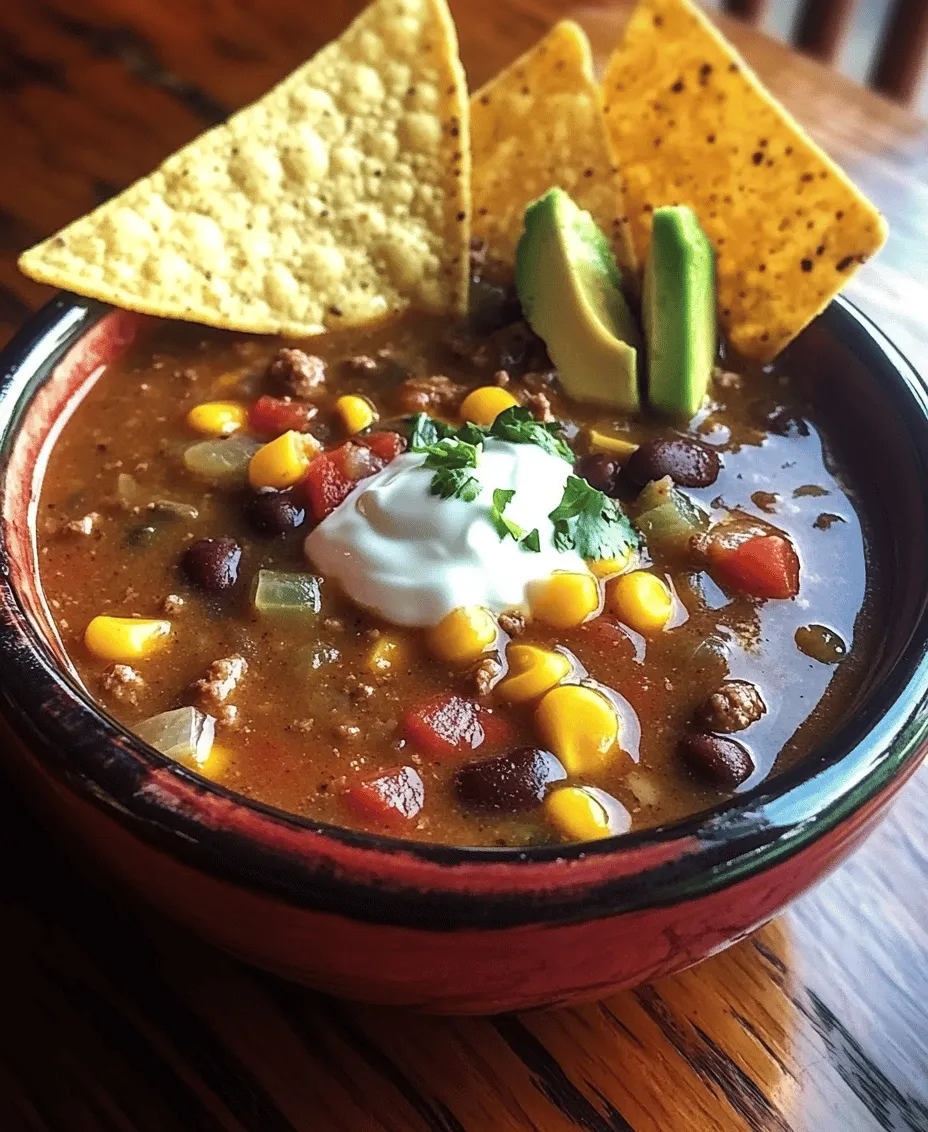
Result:
[[[603,92],[635,247],[654,208],[689,205],[746,357],[774,358],[883,246],[877,209],[688,0],[641,0]]]

